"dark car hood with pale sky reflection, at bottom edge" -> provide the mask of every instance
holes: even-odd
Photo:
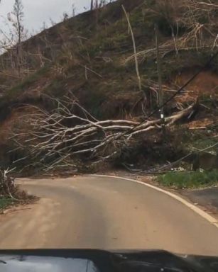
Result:
[[[0,251],[1,272],[218,272],[218,257],[167,251],[60,249]]]

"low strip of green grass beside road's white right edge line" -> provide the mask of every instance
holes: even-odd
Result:
[[[195,172],[168,172],[158,176],[160,185],[173,188],[203,188],[218,184],[218,170]]]

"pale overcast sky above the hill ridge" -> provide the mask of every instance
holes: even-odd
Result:
[[[85,11],[89,7],[90,0],[23,0],[24,6],[24,24],[28,29],[28,33],[35,33],[43,27],[43,22],[46,26],[50,26],[50,18],[58,23],[60,22],[63,13],[72,14],[72,4],[75,4],[76,13]],[[14,0],[1,0],[0,4],[0,23],[1,29],[6,29],[4,18],[13,10]]]

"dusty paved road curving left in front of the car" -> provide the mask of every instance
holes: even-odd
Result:
[[[0,217],[0,249],[166,249],[218,256],[218,228],[153,188],[94,176],[20,183],[41,199]]]

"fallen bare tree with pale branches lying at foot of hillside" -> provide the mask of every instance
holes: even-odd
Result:
[[[148,132],[155,133],[163,126],[160,119],[143,123],[97,120],[77,101],[67,98],[67,102],[56,102],[58,107],[51,113],[36,106],[26,106],[22,126],[11,132],[16,151],[24,154],[15,164],[45,171],[65,167],[78,169],[82,162],[96,164],[115,159],[138,137],[146,137]],[[188,118],[195,111],[195,106],[165,118],[165,126]]]

